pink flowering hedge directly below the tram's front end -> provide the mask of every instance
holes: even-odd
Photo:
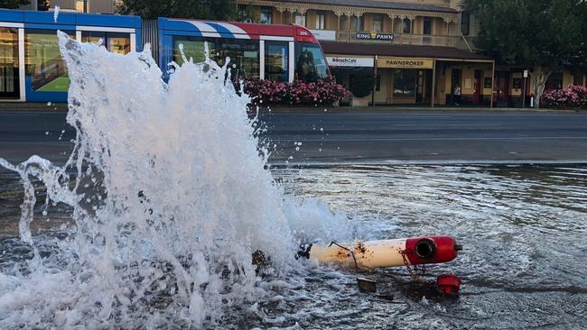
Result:
[[[349,96],[347,88],[334,78],[316,82],[294,80],[292,83],[273,80],[247,80],[245,93],[254,105],[333,105]]]

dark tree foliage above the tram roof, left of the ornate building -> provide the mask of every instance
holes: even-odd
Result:
[[[231,21],[237,17],[235,0],[123,0],[120,14],[157,17],[200,18]]]

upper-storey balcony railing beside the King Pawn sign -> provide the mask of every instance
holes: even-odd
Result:
[[[357,32],[354,31],[349,32],[342,30],[336,32],[336,41],[339,42],[455,47],[461,50],[469,50],[469,47],[473,48],[472,38],[466,38],[467,42],[465,42],[462,36],[395,33],[393,41],[363,40],[357,39]],[[467,45],[467,43],[469,44],[469,46]]]

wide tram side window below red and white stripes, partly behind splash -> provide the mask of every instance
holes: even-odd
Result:
[[[215,60],[219,66],[230,59],[228,68],[232,80],[259,78],[259,43],[258,41],[240,39],[216,39],[189,36],[173,37],[173,60],[183,64],[180,44],[183,45],[183,54],[194,63],[206,60],[204,43],[208,42],[210,60]]]

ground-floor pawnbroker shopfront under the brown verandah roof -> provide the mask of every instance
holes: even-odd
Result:
[[[374,67],[363,69],[362,81],[372,81],[369,105],[454,106],[453,91],[459,86],[459,105],[491,106],[494,60],[467,50],[433,46],[351,44],[321,42],[327,57],[372,57]],[[342,55],[341,55],[342,54]],[[329,61],[331,68],[333,63]],[[337,64],[334,63],[334,66]],[[332,69],[346,81],[349,68]],[[368,72],[372,72],[368,76]],[[349,86],[353,86],[350,79]],[[353,93],[354,94],[354,93]]]

